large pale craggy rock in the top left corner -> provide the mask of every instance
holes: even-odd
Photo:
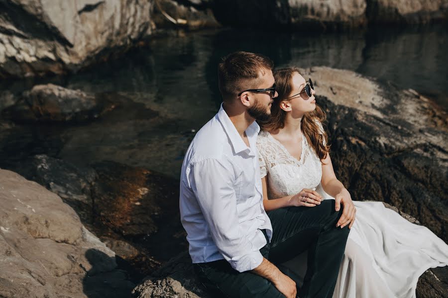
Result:
[[[64,74],[149,36],[153,1],[7,0],[0,4],[0,77]]]

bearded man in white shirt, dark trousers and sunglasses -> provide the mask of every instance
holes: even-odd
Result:
[[[294,298],[296,283],[273,262],[291,259],[306,246],[309,265],[300,297],[331,297],[348,236],[347,227],[336,227],[342,209],[335,211],[334,200],[291,207],[298,215],[292,229],[280,224],[289,211],[269,218],[263,209],[255,120],[269,119],[277,96],[272,68],[268,58],[247,52],[219,64],[224,102],[195,136],[182,165],[180,212],[190,256],[211,291]]]

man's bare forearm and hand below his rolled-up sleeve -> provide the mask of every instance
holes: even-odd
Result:
[[[277,290],[287,298],[296,298],[296,283],[284,275],[274,264],[263,258],[263,261],[257,268],[251,270],[252,273],[258,274],[270,281]]]

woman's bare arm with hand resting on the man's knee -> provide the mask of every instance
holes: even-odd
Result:
[[[348,228],[351,228],[355,220],[356,208],[353,205],[350,193],[344,187],[342,182],[340,182],[336,178],[330,154],[327,154],[327,157],[323,160],[322,163],[321,184],[324,191],[335,198],[336,211],[340,209],[340,204],[342,204],[342,206],[344,207],[342,215],[336,226],[340,225],[340,227],[342,228],[345,225],[349,224]]]

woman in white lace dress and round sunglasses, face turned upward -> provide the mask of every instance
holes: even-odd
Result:
[[[326,115],[316,105],[311,79],[305,81],[297,68],[274,77],[278,97],[257,141],[265,210],[313,208],[336,199],[336,208],[343,205],[337,224],[351,230],[333,297],[415,297],[420,275],[448,264],[448,245],[380,202],[352,202],[333,170],[321,124]],[[305,254],[286,264],[299,277],[305,275]]]

